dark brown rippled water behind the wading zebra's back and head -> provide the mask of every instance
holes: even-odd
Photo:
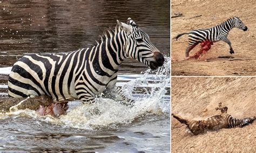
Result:
[[[170,56],[169,1],[2,1],[0,66],[11,66],[26,53],[70,52],[90,47],[116,20],[131,17],[157,48]],[[145,66],[125,60],[120,73]]]

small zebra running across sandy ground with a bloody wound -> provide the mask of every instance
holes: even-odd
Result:
[[[202,43],[204,41],[219,41],[222,40],[225,43],[227,43],[230,46],[230,53],[233,54],[234,50],[231,46],[230,40],[227,39],[228,32],[230,32],[231,29],[234,27],[237,27],[238,29],[247,31],[247,26],[245,26],[244,23],[238,18],[228,18],[225,22],[213,26],[210,29],[198,29],[198,30],[192,30],[189,33],[181,33],[178,34],[173,39],[178,39],[180,36],[183,36],[184,34],[188,34],[188,46],[186,48],[185,56],[186,58],[189,56],[189,52],[197,46],[199,43]]]

